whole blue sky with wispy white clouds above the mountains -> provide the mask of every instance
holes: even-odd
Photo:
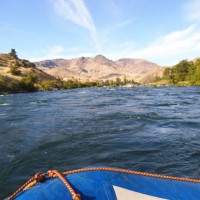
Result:
[[[0,53],[30,61],[200,56],[200,0],[0,0]]]

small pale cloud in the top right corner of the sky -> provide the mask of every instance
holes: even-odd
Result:
[[[189,0],[184,4],[184,12],[186,18],[190,21],[200,20],[200,1],[199,0]]]

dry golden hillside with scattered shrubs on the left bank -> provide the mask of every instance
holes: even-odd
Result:
[[[0,54],[0,93],[31,92],[43,89],[44,81],[57,79],[28,60],[11,54]]]

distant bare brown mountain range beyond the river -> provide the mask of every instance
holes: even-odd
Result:
[[[63,79],[111,80],[117,77],[134,79],[137,82],[151,82],[155,76],[162,76],[164,68],[142,59],[120,59],[112,61],[102,55],[94,58],[54,59],[36,62],[44,72]]]

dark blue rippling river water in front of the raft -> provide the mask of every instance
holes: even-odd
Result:
[[[0,196],[38,171],[112,166],[200,178],[200,88],[0,96]]]

